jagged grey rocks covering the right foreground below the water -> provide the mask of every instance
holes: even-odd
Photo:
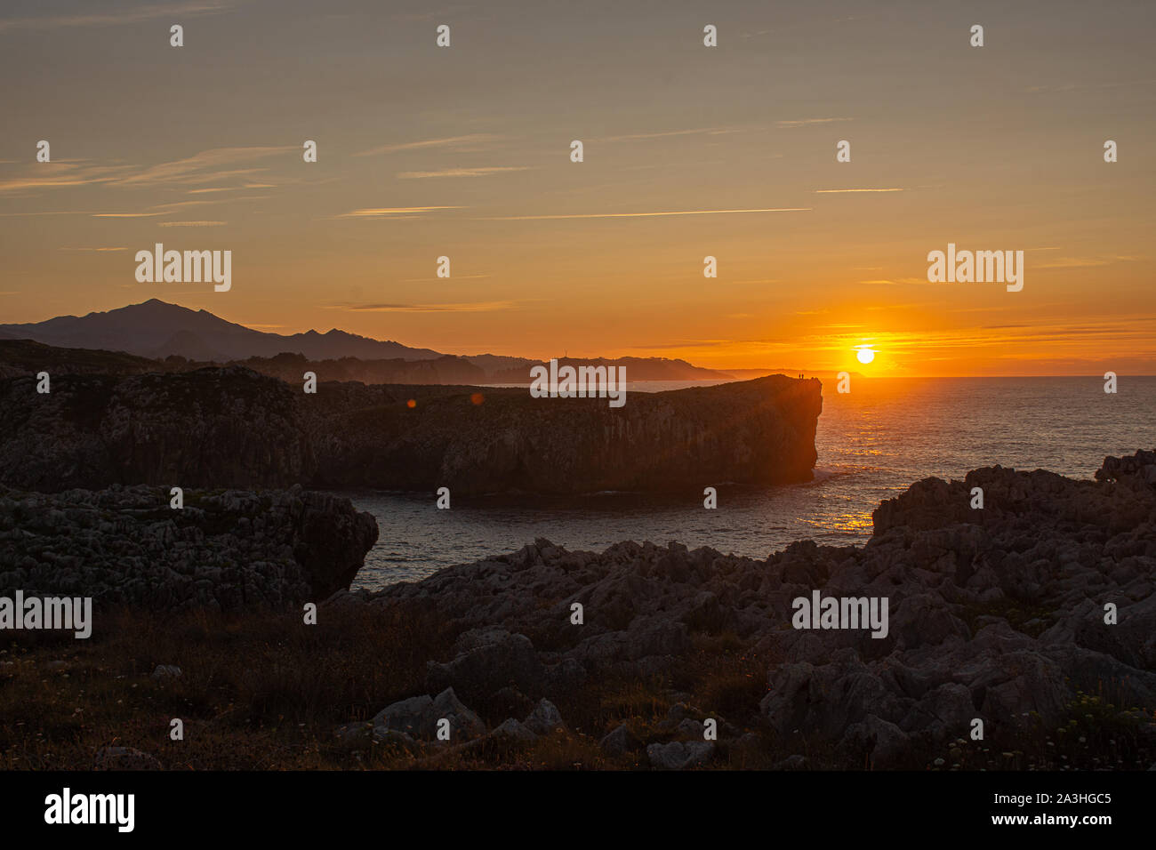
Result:
[[[976,719],[983,740],[1015,749],[1092,710],[1097,729],[1099,712],[1112,712],[1151,747],[1156,452],[1107,458],[1096,478],[996,466],[964,481],[927,479],[880,505],[862,548],[805,541],[756,561],[673,542],[587,553],[539,540],[416,584],[339,593],[328,605],[420,604],[461,630],[449,656],[430,660],[425,694],[339,733],[371,730],[416,747],[449,717],[466,738],[532,740],[564,723],[555,704],[584,687],[676,679],[704,636],[727,635],[770,659],[761,699],[732,705],[731,717],[676,703],[646,749],[652,764],[709,763],[722,749],[756,746],[749,730],[762,726],[799,741],[784,767],[807,763],[805,746],[827,752],[828,764],[922,767],[928,753],[962,759],[968,746],[988,746],[972,738]],[[970,507],[975,487],[980,510]],[[792,600],[814,590],[889,599],[887,636],[792,628]],[[572,622],[576,603],[581,624]],[[506,704],[513,716],[487,732],[472,703]],[[704,737],[707,718],[717,742]],[[609,753],[645,744],[625,724],[602,739]],[[1089,764],[1124,764],[1101,746]],[[1011,767],[1023,753],[1003,756]]]

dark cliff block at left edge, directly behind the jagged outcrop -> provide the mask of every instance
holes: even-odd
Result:
[[[113,483],[289,487],[312,454],[289,387],[246,369],[0,380],[0,481],[42,491]]]

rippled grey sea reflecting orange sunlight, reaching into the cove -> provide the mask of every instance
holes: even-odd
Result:
[[[703,383],[640,384],[631,392]],[[859,378],[852,392],[824,382],[813,481],[764,488],[718,486],[716,510],[699,493],[601,493],[579,497],[452,497],[347,491],[380,537],[354,587],[378,589],[438,569],[513,552],[536,538],[601,550],[622,540],[766,557],[794,540],[862,545],[880,501],[913,481],[963,478],[980,466],[1050,470],[1090,479],[1106,454],[1156,448],[1156,377]],[[629,404],[629,396],[628,401]]]

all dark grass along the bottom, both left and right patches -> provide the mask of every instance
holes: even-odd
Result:
[[[815,769],[862,769],[864,753],[839,753],[806,732],[777,734],[759,712],[768,671],[732,633],[699,633],[666,672],[591,677],[550,694],[566,729],[532,744],[483,739],[408,752],[334,736],[397,700],[427,693],[425,665],[445,660],[458,627],[430,608],[321,608],[319,624],[297,614],[158,615],[120,611],[97,620],[94,636],[6,631],[0,642],[0,768],[91,769],[97,752],[127,746],[168,769],[494,769],[587,770],[649,767],[642,746],[698,739],[668,719],[676,703],[696,722],[720,726],[714,769],[765,769],[803,755]],[[153,679],[177,665],[176,679]],[[510,695],[507,695],[510,697]],[[512,702],[511,702],[512,699]],[[511,708],[519,704],[520,709]],[[532,701],[513,694],[472,704],[494,727],[523,717]],[[683,709],[686,711],[686,709]],[[184,723],[184,740],[170,723]],[[919,769],[1136,769],[1154,759],[1151,712],[1124,708],[1111,683],[1077,693],[1062,720],[1038,716],[988,730],[988,740],[939,747],[916,741]],[[608,755],[598,741],[625,724],[637,748]],[[725,725],[725,730],[724,730]]]

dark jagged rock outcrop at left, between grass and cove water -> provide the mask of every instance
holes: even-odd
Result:
[[[302,490],[0,487],[0,596],[161,611],[282,607],[346,589],[377,541],[349,500]]]

